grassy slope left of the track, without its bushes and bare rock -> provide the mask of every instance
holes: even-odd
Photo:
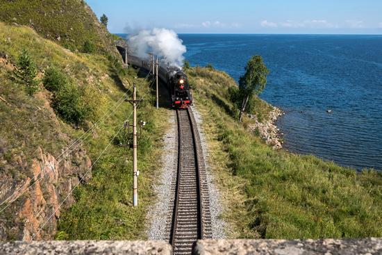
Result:
[[[60,45],[45,40],[31,28],[8,26],[0,22],[0,52],[8,54],[15,63],[19,52],[27,49],[37,63],[40,72],[50,65],[63,69],[72,81],[85,90],[86,101],[96,109],[88,120],[88,126],[99,120],[108,110],[113,115],[99,123],[83,146],[92,162],[108,145],[115,132],[131,113],[131,105],[123,102],[119,108],[115,103],[123,94],[122,82],[127,87],[137,83],[138,94],[145,97],[140,105],[139,120],[147,121],[140,138],[140,206],[130,205],[132,197],[131,149],[112,145],[93,167],[92,180],[75,192],[77,203],[61,214],[58,238],[68,239],[131,239],[142,238],[144,215],[152,200],[152,175],[156,171],[160,152],[160,137],[165,131],[166,110],[154,111],[153,97],[149,81],[135,79],[131,71],[119,75],[110,61],[98,54],[73,54]],[[0,154],[1,171],[19,180],[31,176],[31,172],[15,172],[13,156],[24,155],[28,162],[35,157],[37,146],[58,156],[70,144],[69,139],[58,137],[58,132],[67,133],[72,140],[79,138],[84,131],[59,120],[49,107],[49,92],[42,88],[34,97],[29,97],[21,85],[11,79],[12,72],[1,68],[0,95],[8,101],[0,101],[1,138],[6,138],[7,153]],[[40,74],[42,75],[42,74]],[[154,115],[154,113],[157,113]],[[4,120],[4,121],[3,121]],[[119,136],[120,137],[120,136]],[[7,161],[4,161],[7,160]],[[126,161],[127,160],[127,161]],[[127,163],[126,163],[127,162]],[[5,211],[0,217],[8,217]],[[7,216],[8,215],[8,216]]]

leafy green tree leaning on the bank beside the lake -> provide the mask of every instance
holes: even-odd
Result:
[[[240,108],[239,122],[242,121],[242,113],[248,104],[248,99],[254,94],[260,94],[267,84],[269,70],[263,63],[261,56],[252,56],[245,67],[245,74],[239,79],[242,106]]]

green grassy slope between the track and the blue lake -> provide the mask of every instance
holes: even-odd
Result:
[[[231,117],[233,79],[200,67],[188,74],[232,238],[382,236],[382,174],[357,174],[315,156],[274,151]],[[264,116],[269,107],[256,104]]]

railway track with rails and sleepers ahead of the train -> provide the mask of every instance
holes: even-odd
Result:
[[[191,254],[196,240],[212,238],[206,166],[192,110],[176,110],[176,117],[178,165],[169,241],[174,254]]]

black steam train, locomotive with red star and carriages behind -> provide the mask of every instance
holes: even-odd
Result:
[[[144,60],[137,56],[128,56],[128,63],[135,67],[140,67],[150,71],[152,60]],[[188,108],[192,104],[192,94],[187,75],[179,67],[160,64],[158,67],[158,77],[167,84],[171,94],[172,107]]]

